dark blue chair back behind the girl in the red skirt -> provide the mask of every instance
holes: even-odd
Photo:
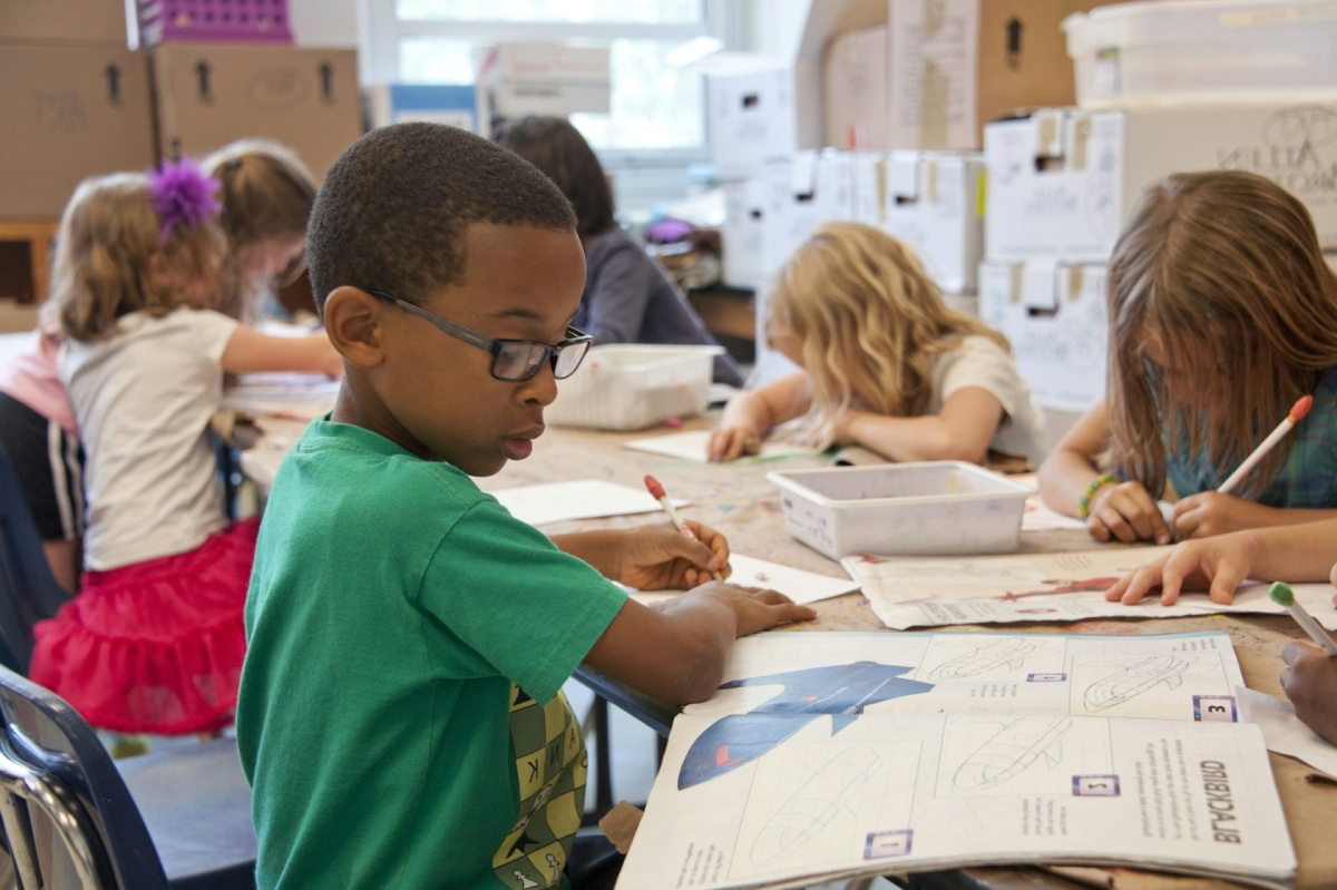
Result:
[[[0,664],[27,675],[32,625],[68,600],[51,575],[13,465],[0,450]]]

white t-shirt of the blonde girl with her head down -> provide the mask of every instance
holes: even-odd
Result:
[[[967,337],[957,349],[939,355],[933,394],[924,413],[940,413],[943,402],[968,386],[983,389],[1003,405],[1003,422],[989,448],[1039,466],[1044,460],[1044,414],[1031,401],[1031,388],[1017,374],[1016,362],[988,337]]]

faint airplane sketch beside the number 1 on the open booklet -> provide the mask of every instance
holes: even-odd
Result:
[[[766,821],[751,846],[753,865],[787,857],[816,838],[882,766],[869,747],[841,751],[813,772]]]

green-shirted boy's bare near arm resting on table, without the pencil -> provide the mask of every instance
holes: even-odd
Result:
[[[584,663],[666,704],[705,702],[737,637],[816,615],[774,591],[710,583],[660,609],[627,600]]]

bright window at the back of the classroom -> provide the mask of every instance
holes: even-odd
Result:
[[[607,45],[611,112],[572,115],[610,170],[706,156],[702,75],[666,56],[737,32],[727,0],[364,0],[366,72],[376,82],[472,83],[507,40]]]

